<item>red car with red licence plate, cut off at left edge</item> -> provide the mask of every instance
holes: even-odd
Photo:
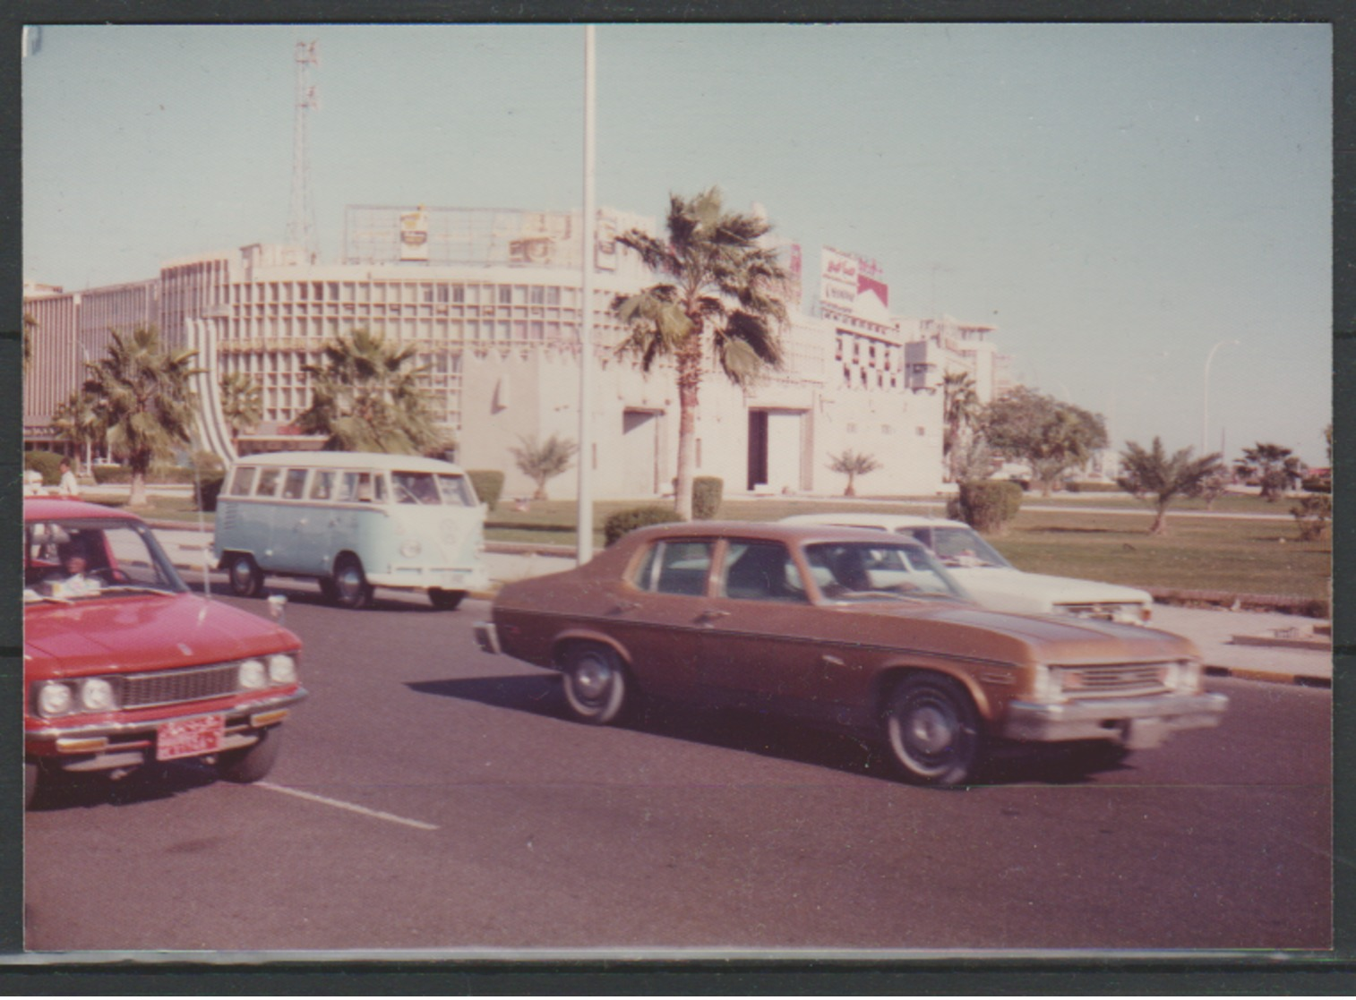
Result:
[[[263,778],[306,696],[301,641],[191,593],[140,518],[30,499],[23,522],[24,802],[58,772],[184,757]]]

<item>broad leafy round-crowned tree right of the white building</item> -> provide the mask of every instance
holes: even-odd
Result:
[[[1026,386],[984,407],[979,427],[994,451],[1031,466],[1032,482],[1044,496],[1066,472],[1085,466],[1093,451],[1106,447],[1106,424],[1100,413]]]

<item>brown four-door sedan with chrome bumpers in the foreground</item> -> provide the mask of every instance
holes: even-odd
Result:
[[[1189,640],[986,611],[917,542],[814,524],[632,531],[589,564],[519,580],[481,649],[564,673],[570,713],[637,694],[777,711],[879,738],[921,783],[972,779],[995,741],[1119,756],[1218,725]]]

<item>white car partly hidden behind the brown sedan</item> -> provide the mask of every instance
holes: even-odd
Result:
[[[909,535],[929,547],[976,603],[1024,615],[1064,614],[1144,625],[1154,599],[1147,591],[1067,576],[1024,573],[970,524],[911,514],[797,514],[800,524],[871,527]]]

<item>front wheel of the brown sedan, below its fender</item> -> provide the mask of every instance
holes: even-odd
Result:
[[[940,673],[918,673],[885,703],[890,753],[919,785],[964,785],[983,756],[979,713],[965,690]]]

